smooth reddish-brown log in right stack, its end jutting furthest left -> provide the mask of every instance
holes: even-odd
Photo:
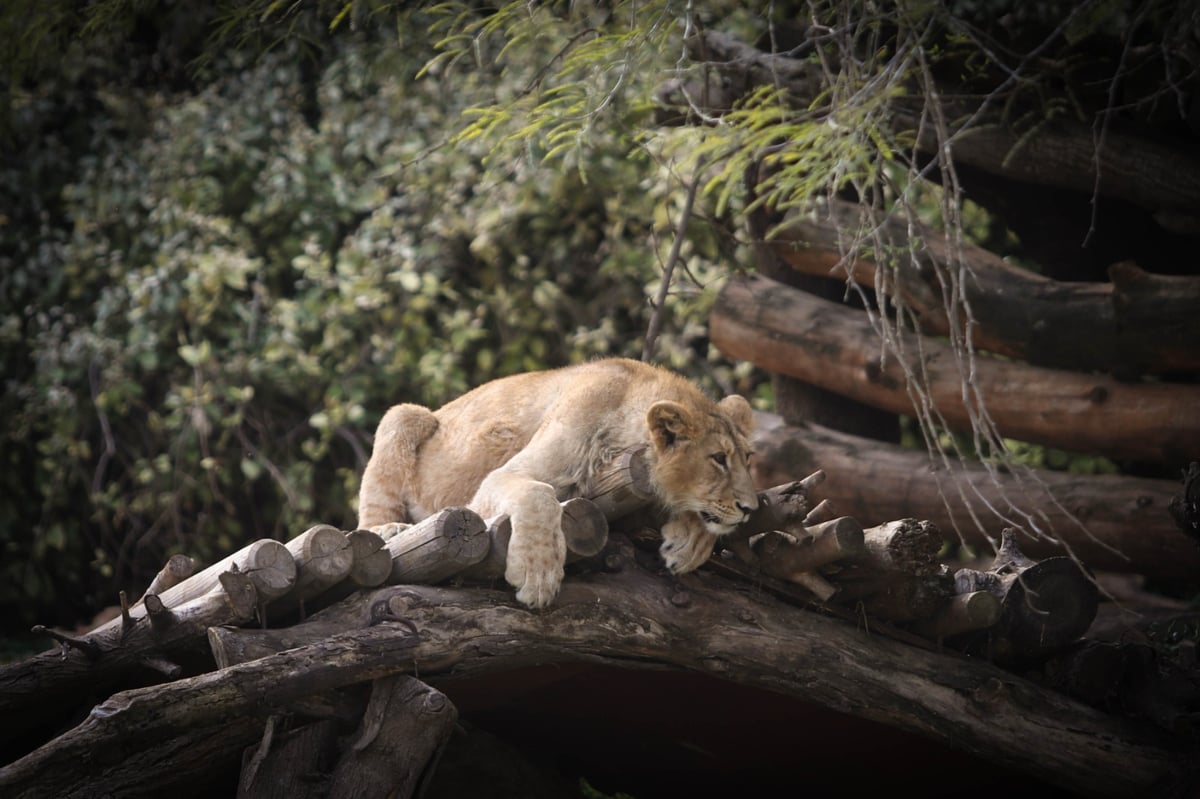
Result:
[[[947,344],[928,338],[918,343],[899,332],[906,355],[892,355],[881,365],[878,336],[866,314],[766,277],[731,278],[718,296],[710,326],[713,343],[731,358],[876,408],[914,413],[907,370],[925,376],[916,388],[953,429],[972,429],[979,413],[964,403],[961,365]],[[974,359],[971,384],[1008,438],[1168,464],[1186,463],[1200,452],[1198,386],[1126,384],[984,355]]]

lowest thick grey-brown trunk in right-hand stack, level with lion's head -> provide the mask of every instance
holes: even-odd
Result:
[[[1000,528],[1015,527],[1022,531],[1021,549],[1033,557],[1072,553],[1094,570],[1154,578],[1200,573],[1200,547],[1166,510],[1178,491],[1171,481],[989,470],[980,463],[946,469],[923,451],[816,425],[786,426],[770,414],[756,420],[760,486],[820,468],[826,479],[814,492],[864,525],[929,519],[948,540],[989,552],[998,545]]]

